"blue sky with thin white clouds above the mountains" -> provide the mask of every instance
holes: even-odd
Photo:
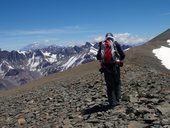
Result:
[[[0,48],[34,42],[142,42],[170,27],[170,0],[0,0]]]

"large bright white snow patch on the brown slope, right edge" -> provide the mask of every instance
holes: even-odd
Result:
[[[170,41],[170,40],[168,40],[168,41]],[[155,56],[158,59],[161,60],[162,65],[164,65],[167,69],[170,70],[170,57],[169,57],[169,55],[170,55],[170,48],[161,46],[158,49],[153,49],[152,52],[155,54]]]

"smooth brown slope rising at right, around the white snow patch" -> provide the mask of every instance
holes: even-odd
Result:
[[[127,63],[133,63],[137,65],[150,66],[156,70],[169,72],[159,59],[152,53],[153,49],[160,48],[161,46],[168,46],[167,40],[170,39],[170,29],[159,34],[155,38],[151,39],[147,43],[133,47],[126,51]]]

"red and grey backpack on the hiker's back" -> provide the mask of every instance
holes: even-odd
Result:
[[[116,48],[115,42],[105,40],[99,43],[100,60],[103,63],[114,63],[119,58],[119,53]]]

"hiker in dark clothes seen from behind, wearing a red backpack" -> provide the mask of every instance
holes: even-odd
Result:
[[[107,86],[107,96],[110,107],[119,104],[121,98],[120,67],[123,66],[125,54],[118,42],[114,40],[112,33],[107,33],[105,41],[99,43],[97,59],[101,61],[101,73]]]

